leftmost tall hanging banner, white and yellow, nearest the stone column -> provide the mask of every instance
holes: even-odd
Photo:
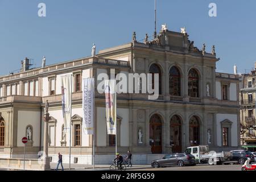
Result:
[[[64,121],[64,133],[71,128],[71,97],[72,97],[72,76],[61,77],[62,111]]]

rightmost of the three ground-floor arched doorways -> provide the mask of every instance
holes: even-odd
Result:
[[[200,123],[199,118],[196,116],[191,117],[189,120],[189,143],[191,146],[200,144]]]

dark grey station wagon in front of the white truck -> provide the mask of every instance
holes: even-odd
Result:
[[[185,165],[196,165],[195,157],[191,154],[169,154],[165,155],[163,159],[153,160],[151,166],[154,168],[166,167],[166,166],[179,166],[183,167]]]

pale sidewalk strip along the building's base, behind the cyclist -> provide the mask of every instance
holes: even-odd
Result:
[[[55,170],[57,167],[57,163],[51,163],[51,169]],[[69,164],[63,164],[64,170],[69,170]],[[109,170],[110,165],[95,165],[95,168],[93,169],[92,165],[86,165],[86,164],[71,164],[71,170]],[[145,168],[151,168],[150,165],[134,165],[133,167],[127,167],[127,170],[133,170],[133,169],[145,169]],[[61,166],[59,166],[59,170],[61,170]]]

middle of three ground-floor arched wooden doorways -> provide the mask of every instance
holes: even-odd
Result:
[[[181,118],[178,115],[174,115],[170,121],[170,145],[173,153],[182,152]]]

